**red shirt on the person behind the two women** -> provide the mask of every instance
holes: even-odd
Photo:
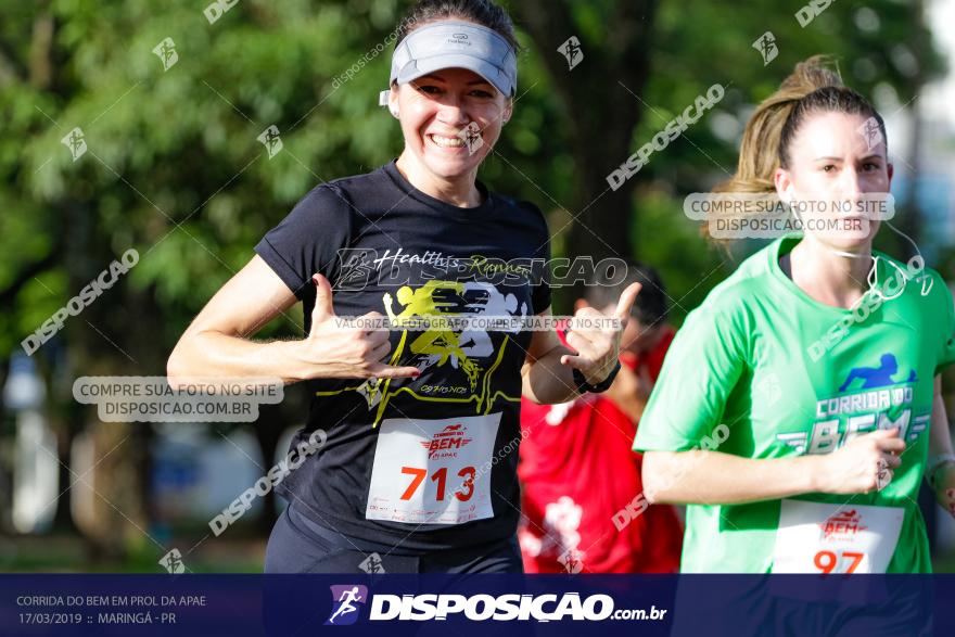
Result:
[[[638,361],[654,381],[673,341],[674,330],[666,330]],[[521,429],[529,432],[518,467],[526,518],[518,534],[527,573],[679,569],[683,525],[671,506],[646,508],[642,456],[631,450],[636,426],[612,400],[598,394],[562,405],[522,399]]]

